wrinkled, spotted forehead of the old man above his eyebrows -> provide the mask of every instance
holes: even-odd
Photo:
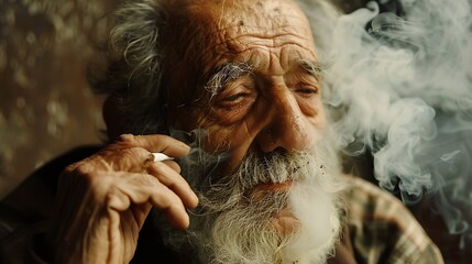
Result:
[[[200,69],[212,67],[215,56],[244,52],[253,44],[245,36],[273,40],[277,46],[284,41],[279,36],[295,34],[305,38],[300,45],[314,47],[308,21],[292,0],[197,0],[179,21],[180,56],[191,57]]]

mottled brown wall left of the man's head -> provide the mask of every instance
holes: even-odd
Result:
[[[99,142],[86,66],[118,0],[0,0],[0,199],[55,155]]]

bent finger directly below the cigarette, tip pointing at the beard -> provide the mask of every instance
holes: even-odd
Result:
[[[198,197],[191,190],[187,180],[176,173],[173,168],[164,163],[154,163],[147,167],[147,172],[151,175],[157,177],[157,179],[164,184],[167,188],[172,189],[187,208],[195,208],[198,205]]]

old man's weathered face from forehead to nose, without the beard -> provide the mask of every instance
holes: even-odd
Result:
[[[206,130],[206,151],[228,152],[228,172],[249,151],[314,150],[326,120],[314,41],[298,7],[198,1],[186,13],[169,70],[173,125]]]

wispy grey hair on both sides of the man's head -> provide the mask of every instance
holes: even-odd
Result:
[[[135,0],[121,6],[108,40],[107,69],[91,74],[92,89],[117,103],[117,114],[122,120],[120,133],[167,133],[167,89],[163,80],[167,47],[161,41],[172,14],[166,2]],[[327,0],[296,2],[310,22],[318,52],[329,48],[339,12]]]

